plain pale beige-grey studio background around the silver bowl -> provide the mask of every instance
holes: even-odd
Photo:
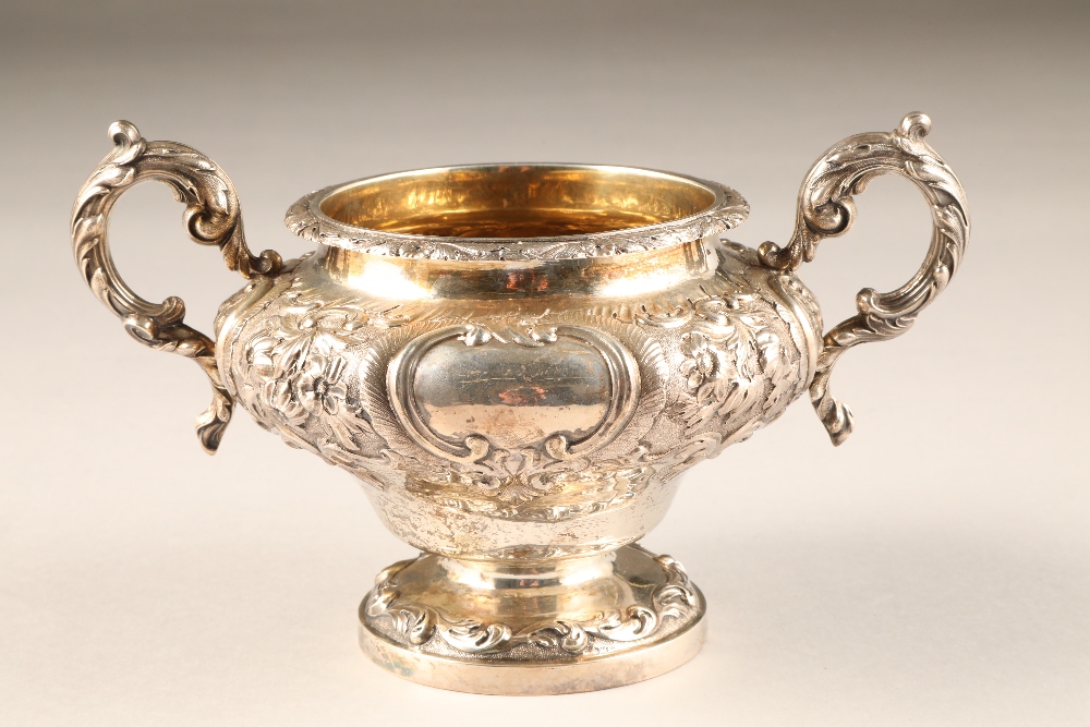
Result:
[[[0,10],[0,724],[1086,725],[1090,475],[1085,3],[50,2]],[[244,412],[220,453],[192,362],[122,331],[72,263],[70,205],[128,118],[219,161],[251,246],[326,184],[498,160],[737,187],[785,241],[839,138],[922,110],[972,239],[907,336],[852,351],[838,449],[809,404],[698,467],[645,541],[707,595],[686,667],[562,698],[388,676],[355,644],[411,555],[352,478]],[[832,323],[922,259],[881,179],[803,279]],[[143,295],[210,330],[243,282],[166,187],[117,209]]]

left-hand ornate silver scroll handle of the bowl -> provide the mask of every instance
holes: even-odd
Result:
[[[197,417],[197,436],[208,453],[215,453],[231,420],[234,405],[216,366],[215,344],[182,318],[185,304],[168,298],[155,304],[124,283],[113,266],[106,239],[107,220],[118,198],[134,184],[148,179],[165,182],[174,198],[185,204],[185,229],[203,245],[218,245],[227,267],[245,278],[275,275],[280,256],[266,250],[254,257],[246,247],[234,185],[211,159],[172,142],[147,142],[128,121],[110,125],[113,150],[80,190],[72,209],[72,245],[76,264],[92,291],[141,343],[193,359],[211,381],[213,401]]]

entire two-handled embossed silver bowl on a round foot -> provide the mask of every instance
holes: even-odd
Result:
[[[281,266],[250,256],[233,187],[207,158],[119,122],[117,149],[76,203],[73,241],[130,331],[205,367],[217,391],[209,449],[238,400],[355,474],[386,525],[424,552],[364,602],[368,654],[451,689],[580,691],[661,674],[699,649],[699,592],[673,559],[632,545],[665,516],[677,476],[808,388],[843,441],[851,420],[827,391],[833,363],[903,332],[954,274],[964,192],[922,142],[929,128],[911,114],[892,134],[834,146],[803,184],[784,249],[718,240],[748,206],[712,182],[474,166],[307,195],[288,225],[319,244]],[[850,195],[883,172],[931,201],[931,252],[904,288],[860,293],[859,316],[823,338],[794,270],[847,229]],[[180,301],[142,301],[109,260],[110,205],[145,177],[170,181],[195,239],[251,278],[221,306],[214,349],[182,326]],[[518,687],[535,668],[564,676]]]

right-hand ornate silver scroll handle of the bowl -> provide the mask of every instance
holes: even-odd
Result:
[[[851,195],[862,192],[879,174],[908,178],[931,205],[934,221],[931,249],[912,279],[888,293],[872,288],[859,291],[858,315],[825,335],[810,385],[810,400],[834,445],[851,434],[852,414],[828,391],[833,364],[852,346],[884,341],[908,330],[920,311],[954,277],[969,241],[965,190],[942,157],[923,141],[930,131],[931,119],[927,114],[909,113],[892,133],[858,134],[833,146],[802,182],[790,244],[780,249],[766,242],[759,251],[762,263],[779,270],[794,270],[803,260],[809,263],[822,239],[848,231],[856,217]]]

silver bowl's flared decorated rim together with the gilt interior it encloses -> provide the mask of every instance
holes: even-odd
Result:
[[[475,219],[486,219],[482,199],[508,217],[518,214],[520,205],[535,206],[541,217],[537,207],[553,204],[548,214],[556,219],[538,226],[544,230],[567,222],[561,218],[577,211],[584,222],[582,229],[570,225],[572,229],[562,234],[523,234],[530,229],[523,225],[509,228],[502,237],[477,235],[472,226],[459,227],[457,220],[467,208]],[[428,205],[436,209],[422,213]],[[591,209],[576,210],[580,205]],[[532,211],[530,206],[526,210]],[[408,223],[397,219],[398,214],[425,213],[431,222],[417,229],[436,229],[434,220],[443,220],[439,229],[458,233],[404,231]],[[373,255],[534,260],[670,247],[737,227],[748,214],[749,205],[730,187],[686,174],[611,165],[494,163],[417,169],[335,184],[303,196],[288,209],[284,221],[312,242]],[[585,222],[589,215],[595,216],[594,222]],[[482,229],[502,228],[486,221]]]

